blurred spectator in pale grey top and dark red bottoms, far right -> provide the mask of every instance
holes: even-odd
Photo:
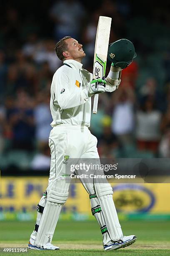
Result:
[[[136,138],[139,150],[157,153],[160,142],[162,114],[153,97],[146,97],[136,112]]]

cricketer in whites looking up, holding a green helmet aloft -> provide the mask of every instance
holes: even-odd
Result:
[[[116,41],[109,48],[110,56],[114,55],[115,59],[107,78],[92,80],[92,74],[82,68],[85,52],[77,40],[65,36],[57,42],[55,51],[63,65],[55,72],[51,84],[50,110],[53,121],[49,136],[50,177],[48,187],[37,205],[35,230],[28,244],[28,248],[33,250],[59,249],[52,245],[52,236],[62,205],[68,197],[72,172],[66,175],[67,162],[83,158],[100,161],[97,138],[89,130],[91,97],[96,93],[114,92],[120,84],[121,70],[136,55],[130,41]],[[112,199],[112,187],[107,179],[102,183],[95,178],[93,183],[86,183],[84,179],[81,182],[89,194],[92,215],[100,225],[104,250],[115,250],[134,243],[136,236],[124,236],[122,233]]]

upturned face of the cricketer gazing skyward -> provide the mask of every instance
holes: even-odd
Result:
[[[66,40],[68,50],[67,53],[69,56],[66,59],[74,59],[74,60],[81,60],[85,57],[85,52],[82,49],[82,44],[79,44],[77,40],[74,38],[69,38]]]

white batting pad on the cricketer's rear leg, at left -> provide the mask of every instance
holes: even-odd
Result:
[[[59,177],[47,188],[47,201],[35,241],[36,246],[51,243],[62,205],[68,197],[70,177]]]

